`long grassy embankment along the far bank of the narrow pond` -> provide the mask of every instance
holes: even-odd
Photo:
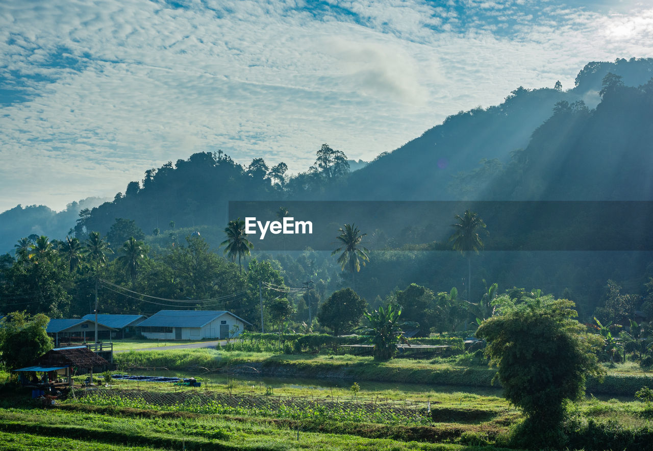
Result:
[[[474,364],[466,356],[430,360],[394,359],[374,362],[371,357],[353,355],[311,356],[271,352],[223,352],[214,349],[184,349],[125,352],[116,354],[119,368],[223,369],[224,371],[259,371],[262,375],[306,378],[342,378],[352,381],[408,382],[436,385],[492,387],[496,370]],[[239,368],[240,367],[240,368]],[[251,368],[251,369],[250,369]],[[496,385],[494,385],[496,386]],[[587,381],[588,392],[633,396],[640,388],[653,388],[652,373],[632,364],[609,369],[603,382],[594,377]]]

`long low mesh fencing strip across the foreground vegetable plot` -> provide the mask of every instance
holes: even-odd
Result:
[[[381,397],[276,396],[184,390],[93,390],[76,392],[72,402],[163,409],[205,414],[273,416],[303,420],[340,420],[383,424],[426,424],[430,402],[392,401]]]

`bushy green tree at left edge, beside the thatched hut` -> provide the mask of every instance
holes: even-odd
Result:
[[[0,360],[5,368],[25,367],[52,349],[46,332],[48,322],[43,313],[30,317],[18,311],[0,320]]]

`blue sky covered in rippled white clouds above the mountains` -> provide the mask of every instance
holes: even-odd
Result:
[[[200,151],[369,161],[652,42],[628,0],[3,0],[0,211],[113,198]]]

